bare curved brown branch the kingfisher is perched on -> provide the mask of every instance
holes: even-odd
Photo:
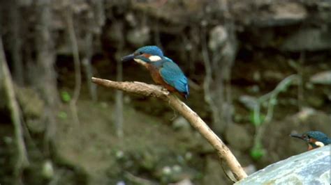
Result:
[[[196,128],[203,137],[214,147],[221,161],[226,162],[230,170],[235,175],[237,180],[244,179],[247,177],[247,174],[240,166],[240,163],[237,161],[232,152],[228,147],[223,143],[223,141],[210,129],[207,124],[199,117],[197,113],[192,111],[189,106],[184,104],[180,99],[174,95],[170,95],[168,90],[165,90],[161,86],[150,85],[142,82],[119,82],[119,81],[110,81],[105,79],[98,79],[92,77],[92,81],[100,86],[107,88],[115,88],[117,90],[123,90],[127,93],[134,93],[137,95],[143,95],[147,97],[157,97],[167,102],[172,108],[175,108],[186,120],[188,120],[191,125]]]

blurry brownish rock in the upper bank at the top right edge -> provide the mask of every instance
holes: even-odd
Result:
[[[331,49],[331,31],[322,29],[300,29],[293,33],[281,45],[284,51],[320,51]]]

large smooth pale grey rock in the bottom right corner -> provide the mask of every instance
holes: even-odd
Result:
[[[331,145],[273,163],[235,184],[330,184]]]

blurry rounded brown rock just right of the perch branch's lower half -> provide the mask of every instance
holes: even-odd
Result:
[[[237,150],[247,150],[251,147],[251,135],[239,124],[229,124],[226,129],[226,140],[229,145]]]

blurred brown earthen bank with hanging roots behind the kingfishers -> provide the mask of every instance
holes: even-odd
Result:
[[[157,45],[184,102],[248,173],[331,136],[331,1],[0,1],[0,184],[231,184],[159,99],[91,77],[153,83],[120,58]],[[226,169],[226,168],[225,168]]]

